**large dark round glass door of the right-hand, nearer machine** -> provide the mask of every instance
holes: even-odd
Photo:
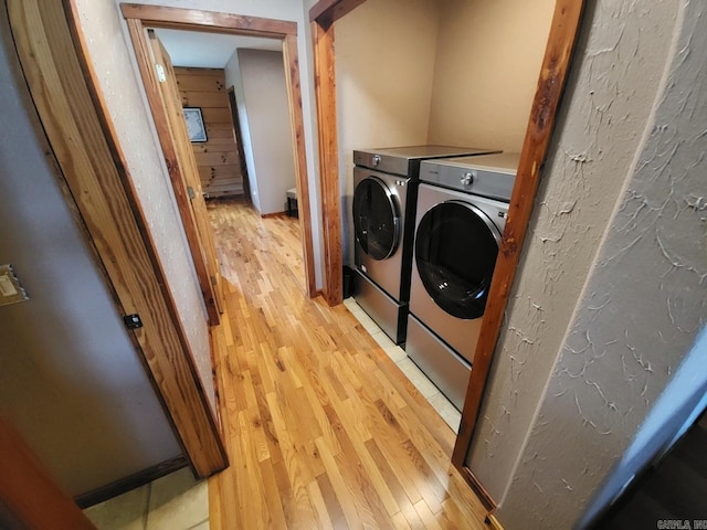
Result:
[[[473,204],[435,204],[415,233],[415,265],[422,285],[445,312],[461,319],[484,315],[500,232]]]

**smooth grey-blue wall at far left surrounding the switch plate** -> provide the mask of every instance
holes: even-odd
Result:
[[[181,448],[35,136],[24,80],[15,83],[0,47],[0,263],[30,296],[0,307],[0,415],[80,495]]]

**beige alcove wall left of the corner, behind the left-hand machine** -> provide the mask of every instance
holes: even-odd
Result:
[[[437,20],[436,2],[368,0],[335,24],[345,263],[354,261],[354,149],[428,141]]]

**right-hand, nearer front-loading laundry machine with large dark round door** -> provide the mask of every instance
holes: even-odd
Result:
[[[458,410],[518,161],[499,153],[420,168],[405,351]]]

